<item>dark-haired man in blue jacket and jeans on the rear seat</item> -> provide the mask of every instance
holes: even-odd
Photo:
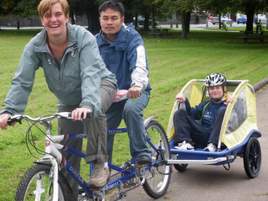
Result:
[[[96,35],[100,54],[107,68],[115,73],[119,90],[128,90],[129,99],[113,103],[106,113],[108,128],[117,128],[124,119],[130,139],[131,156],[138,165],[151,162],[145,142],[143,110],[150,84],[144,42],[133,26],[124,24],[124,6],[105,1],[99,7],[101,32]],[[117,97],[120,97],[117,94]],[[112,157],[114,135],[108,135],[108,152]]]

